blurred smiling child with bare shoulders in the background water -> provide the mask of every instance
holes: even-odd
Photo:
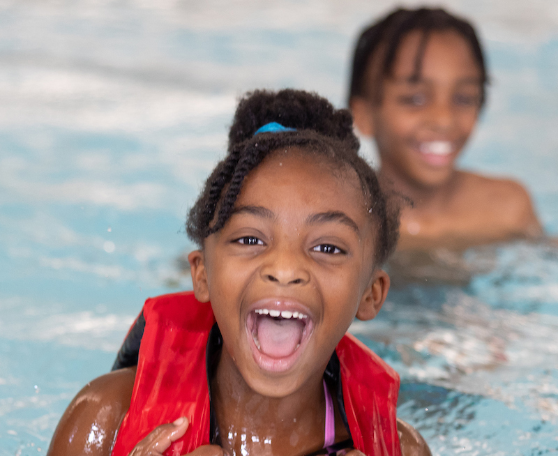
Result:
[[[455,169],[486,84],[473,27],[442,9],[398,9],[361,34],[349,105],[375,138],[381,178],[414,202],[402,211],[400,249],[541,236],[522,185]]]

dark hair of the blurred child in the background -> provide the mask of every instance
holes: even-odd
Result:
[[[478,63],[478,68],[481,70],[482,107],[486,98],[488,74],[481,43],[472,24],[460,17],[451,15],[442,8],[418,8],[415,10],[398,8],[361,32],[354,49],[349,102],[354,96],[366,96],[365,73],[370,61],[377,55],[382,45],[385,45],[385,49],[382,50],[381,61],[379,61],[381,68],[379,74],[382,77],[388,77],[393,69],[393,61],[402,39],[407,33],[414,30],[423,32],[415,60],[415,79],[418,79],[421,75],[424,50],[432,31],[451,30],[465,38],[471,47],[476,63]],[[382,83],[379,81],[375,87],[376,93],[374,96],[376,101],[379,101],[381,88]]]

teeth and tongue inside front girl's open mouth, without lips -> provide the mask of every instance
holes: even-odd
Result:
[[[302,312],[266,308],[250,312],[246,323],[259,353],[273,359],[292,356],[308,339],[311,326]]]

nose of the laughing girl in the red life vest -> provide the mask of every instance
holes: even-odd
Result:
[[[267,255],[260,276],[266,282],[278,285],[304,285],[310,282],[310,272],[303,253],[288,246],[277,246]]]

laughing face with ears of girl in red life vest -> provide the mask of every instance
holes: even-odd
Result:
[[[189,257],[223,334],[221,363],[271,397],[318,382],[355,315],[373,318],[387,293],[374,232],[356,173],[334,176],[296,148],[266,158],[225,227]]]

